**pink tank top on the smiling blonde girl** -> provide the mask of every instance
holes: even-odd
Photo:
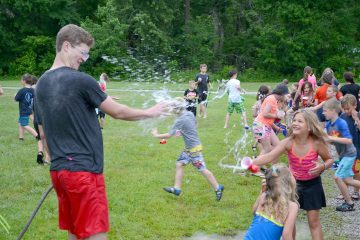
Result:
[[[310,169],[316,167],[319,154],[311,146],[308,153],[305,156],[300,157],[293,151],[294,143],[291,145],[291,149],[288,151],[289,168],[296,180],[305,181],[316,178],[317,176],[310,175]]]

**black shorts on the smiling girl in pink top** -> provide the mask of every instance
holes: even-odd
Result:
[[[296,186],[301,209],[309,211],[326,207],[326,198],[320,176],[306,181],[296,180]]]

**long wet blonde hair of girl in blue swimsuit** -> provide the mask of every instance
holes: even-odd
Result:
[[[266,192],[262,211],[279,223],[284,223],[289,213],[289,203],[297,202],[296,181],[283,163],[274,164],[265,172]]]

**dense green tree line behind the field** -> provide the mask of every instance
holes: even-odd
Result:
[[[40,75],[67,23],[95,38],[83,70],[162,79],[207,63],[269,74],[359,70],[358,0],[0,0],[0,74]]]

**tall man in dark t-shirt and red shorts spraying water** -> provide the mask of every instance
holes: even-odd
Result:
[[[103,139],[95,108],[116,119],[157,117],[162,104],[146,110],[115,102],[96,80],[78,71],[94,39],[83,28],[64,26],[56,37],[52,67],[38,81],[35,114],[51,157],[51,180],[59,202],[59,227],[69,239],[106,239],[108,204],[103,176]]]

